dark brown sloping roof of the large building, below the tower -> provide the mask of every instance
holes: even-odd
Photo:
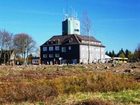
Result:
[[[72,34],[72,35],[56,35],[56,36],[53,36],[48,41],[46,41],[43,45],[87,44],[87,43],[83,43],[83,41],[101,43],[101,41],[95,39],[93,36],[89,37],[89,36],[85,36],[85,35]],[[92,44],[92,45],[94,45],[94,44]],[[98,46],[104,47],[103,45],[98,45]]]

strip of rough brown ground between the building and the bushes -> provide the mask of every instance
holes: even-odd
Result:
[[[47,72],[46,72],[47,70]],[[114,73],[126,73],[134,75],[140,81],[140,62],[122,64],[89,64],[89,65],[29,65],[29,66],[0,66],[0,80],[15,81],[26,79],[52,79],[60,76],[76,76],[87,70],[92,71],[112,71]],[[65,72],[64,72],[65,71]],[[86,72],[87,73],[87,72]]]

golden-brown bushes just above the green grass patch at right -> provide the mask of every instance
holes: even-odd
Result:
[[[111,72],[61,77],[53,81],[60,94],[76,92],[117,92],[127,89],[138,89],[140,86],[130,77]]]

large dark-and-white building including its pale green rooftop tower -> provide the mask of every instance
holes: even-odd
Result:
[[[105,46],[92,36],[80,35],[80,22],[67,18],[62,35],[55,35],[40,46],[41,64],[92,63],[105,60]]]

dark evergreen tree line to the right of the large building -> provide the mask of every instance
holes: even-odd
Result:
[[[106,51],[106,55],[110,57],[121,57],[121,58],[128,58],[129,61],[140,61],[140,43],[136,47],[135,51],[132,52],[128,49],[124,50],[123,48],[119,50],[118,53],[115,53],[114,50]]]

